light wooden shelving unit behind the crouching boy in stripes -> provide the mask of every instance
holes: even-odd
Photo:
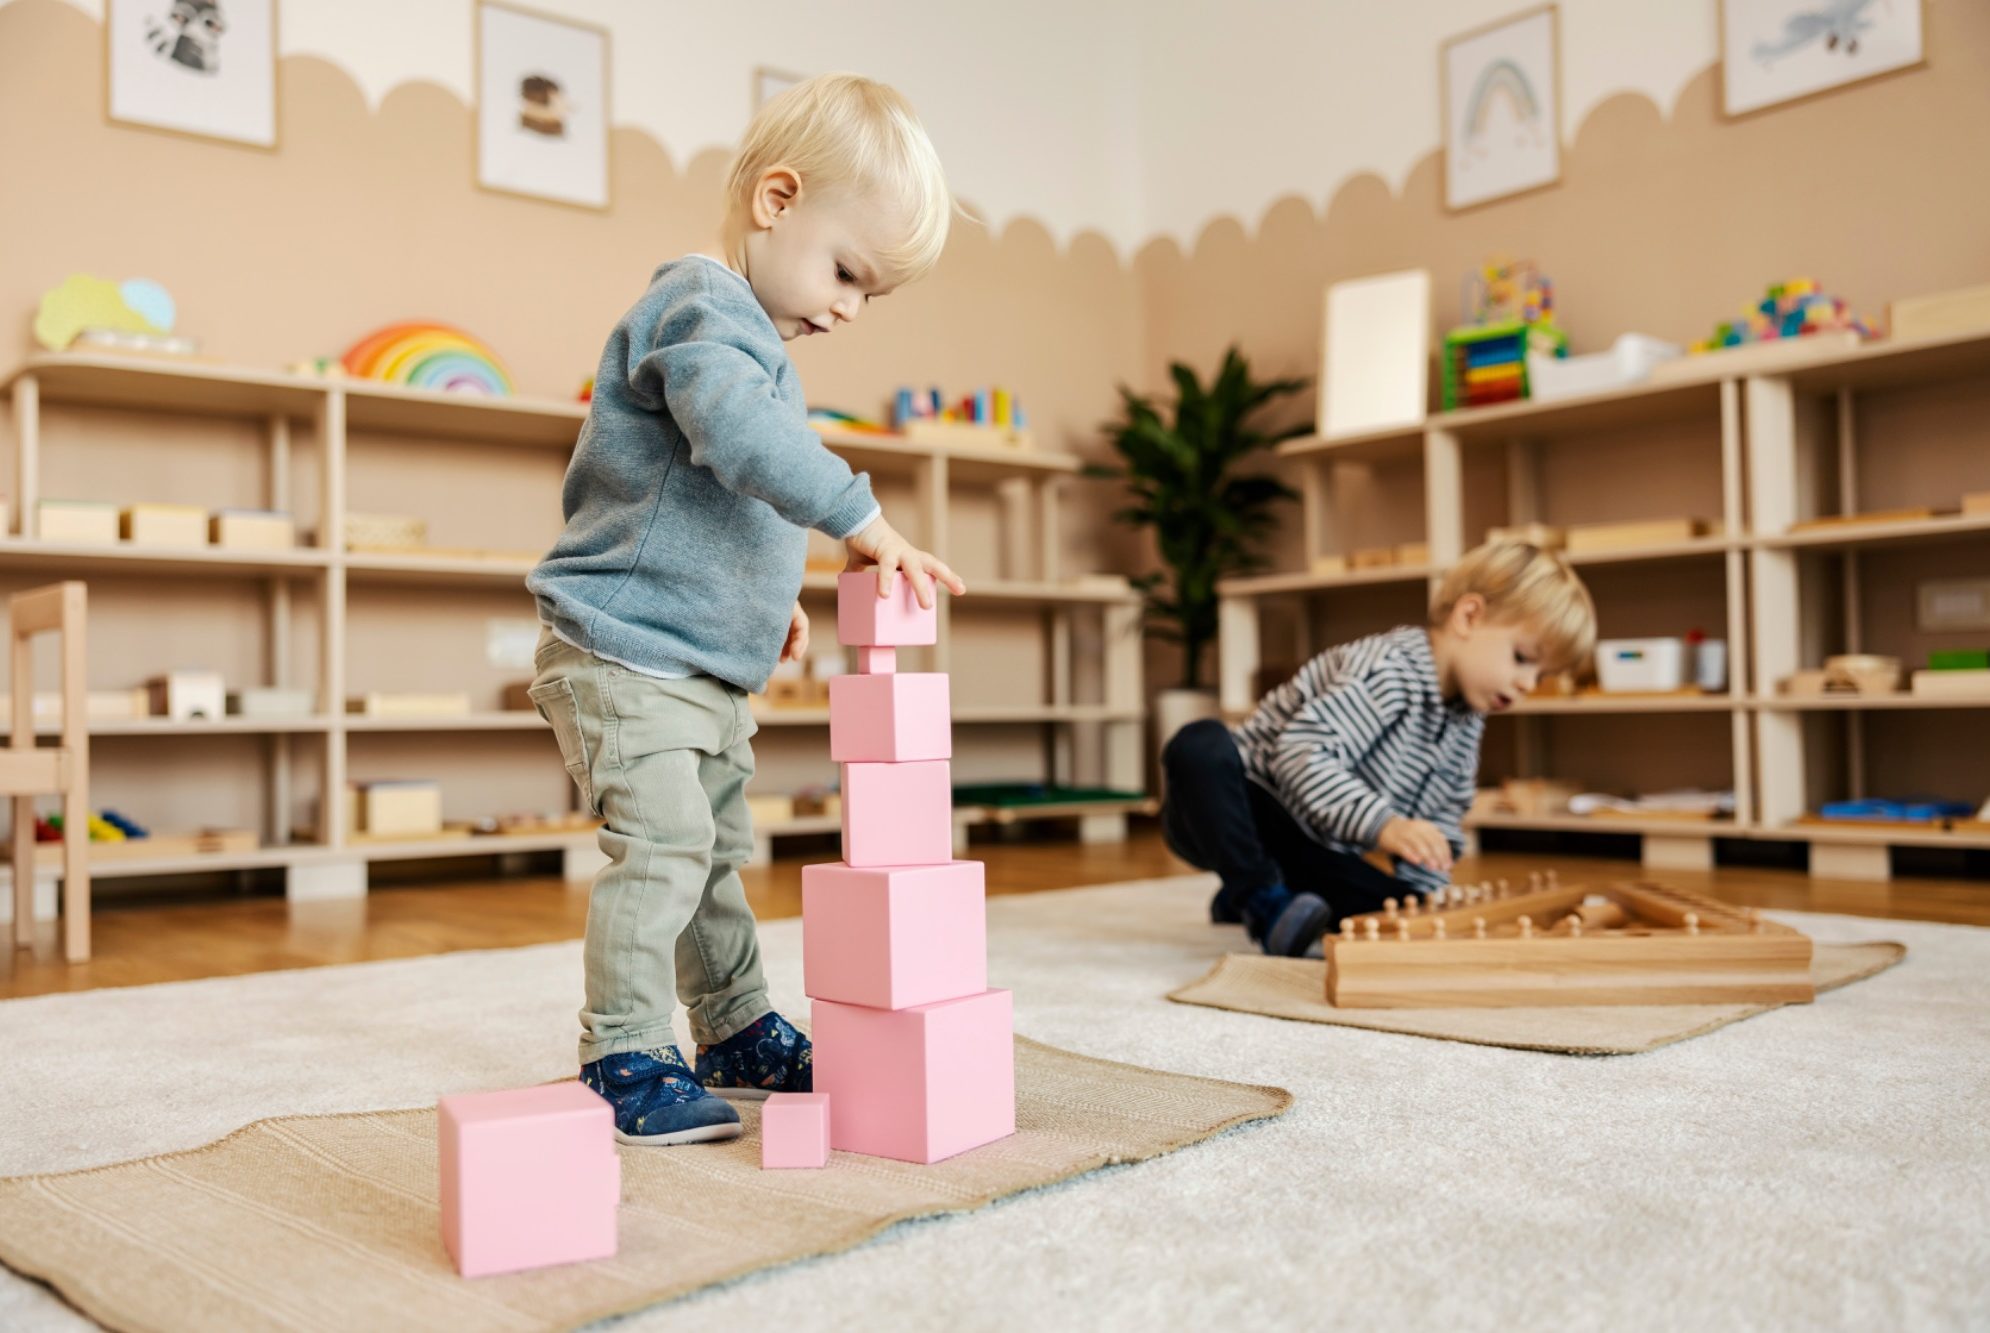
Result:
[[[1918,665],[1900,645],[1867,643],[1861,633],[1861,625],[1873,619],[1875,609],[1896,609],[1912,601],[1908,587],[1889,585],[1883,593],[1871,587],[1871,565],[1881,555],[1922,547],[1970,551],[1976,553],[1976,563],[1984,565],[1980,573],[1990,575],[1990,561],[1984,559],[1990,551],[1986,541],[1990,517],[1984,515],[1791,531],[1793,523],[1805,519],[1859,513],[1863,503],[1875,509],[1910,503],[1952,505],[1962,491],[1990,489],[1990,438],[1978,440],[1974,452],[1950,448],[1946,456],[1922,460],[1918,495],[1902,495],[1906,483],[1898,479],[1902,454],[1916,448],[1922,430],[1940,424],[1934,416],[1914,416],[1898,400],[1924,392],[1942,398],[1936,406],[1946,408],[1950,420],[1958,416],[1984,420],[1984,408],[1990,406],[1984,396],[1984,386],[1990,386],[1990,336],[1881,342],[1819,354],[1801,366],[1761,376],[1721,376],[1717,362],[1709,362],[1705,370],[1707,374],[1693,380],[1554,402],[1445,412],[1421,428],[1371,432],[1347,440],[1294,440],[1282,446],[1280,454],[1299,466],[1301,549],[1307,565],[1315,555],[1347,545],[1343,539],[1347,515],[1337,505],[1337,495],[1349,481],[1365,479],[1363,470],[1415,464],[1423,468],[1425,531],[1401,533],[1401,539],[1421,535],[1429,543],[1431,565],[1327,577],[1276,573],[1226,583],[1222,587],[1224,714],[1232,720],[1242,718],[1256,704],[1254,676],[1264,661],[1266,607],[1286,603],[1280,611],[1288,621],[1295,621],[1288,651],[1295,661],[1303,661],[1327,647],[1311,629],[1317,613],[1331,611],[1335,601],[1353,589],[1391,583],[1433,587],[1451,561],[1481,539],[1483,523],[1469,519],[1485,517],[1481,493],[1487,489],[1504,491],[1506,511],[1500,519],[1504,523],[1638,517],[1582,513],[1582,497],[1570,495],[1566,485],[1556,487],[1556,477],[1548,476],[1544,460],[1550,450],[1560,448],[1566,458],[1566,450],[1610,456],[1614,448],[1624,448],[1632,454],[1624,464],[1626,470],[1640,464],[1650,468],[1662,458],[1652,446],[1654,434],[1684,432],[1693,440],[1717,444],[1717,450],[1697,446],[1697,456],[1690,462],[1717,470],[1717,487],[1711,491],[1717,503],[1703,517],[1719,519],[1719,535],[1668,545],[1578,551],[1570,561],[1584,569],[1592,591],[1598,593],[1606,637],[1616,637],[1612,619],[1618,611],[1612,589],[1602,583],[1606,573],[1636,577],[1642,567],[1668,565],[1678,567],[1678,579],[1692,579],[1695,567],[1715,565],[1721,597],[1717,629],[1725,631],[1729,653],[1727,692],[1524,700],[1510,712],[1510,726],[1516,728],[1512,770],[1520,776],[1542,772],[1546,756],[1538,728],[1548,720],[1568,726],[1574,718],[1656,714],[1678,716],[1684,724],[1692,716],[1727,714],[1725,772],[1719,776],[1733,784],[1735,818],[1703,822],[1634,816],[1489,816],[1473,820],[1473,826],[1638,834],[1644,838],[1648,861],[1666,865],[1711,863],[1715,838],[1807,842],[1813,873],[1869,879],[1887,877],[1889,848],[1990,848],[1990,838],[1982,834],[1799,824],[1805,810],[1821,798],[1863,794],[1869,752],[1877,740],[1865,732],[1867,716],[1885,716],[1889,726],[1904,726],[1914,716],[1976,720],[1990,710],[1990,698],[1775,694],[1779,678],[1797,666],[1819,666],[1821,657],[1829,653],[1900,653],[1908,659],[1908,668]],[[1958,398],[1970,392],[1978,398],[1968,402]],[[1863,460],[1859,424],[1861,404],[1867,398],[1885,400],[1898,426],[1885,442],[1885,454],[1875,452]],[[1489,458],[1491,454],[1496,454],[1496,460]],[[1626,476],[1636,474],[1626,472]],[[1861,477],[1867,477],[1867,485],[1861,485]],[[1652,481],[1648,476],[1638,479]],[[1556,503],[1550,503],[1550,493],[1556,491],[1560,491]],[[1835,585],[1827,585],[1825,571],[1819,569],[1825,559],[1841,563]],[[1697,577],[1709,583],[1707,575]],[[1650,633],[1684,629],[1688,627]],[[1835,629],[1843,631],[1837,639],[1833,639]],[[1896,627],[1892,633],[1898,635]],[[1976,639],[1990,639],[1990,633],[1978,633]],[[1843,726],[1845,738],[1833,744],[1819,736],[1821,720]],[[1594,724],[1582,722],[1582,726]],[[1976,746],[1974,752],[1990,750]],[[1821,782],[1833,766],[1839,770],[1837,780]]]

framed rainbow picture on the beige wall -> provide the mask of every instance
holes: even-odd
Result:
[[[1562,179],[1562,68],[1552,4],[1451,38],[1439,56],[1445,207]]]

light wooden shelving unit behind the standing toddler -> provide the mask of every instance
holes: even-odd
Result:
[[[263,680],[231,680],[241,684],[289,686],[302,680],[318,694],[318,712],[300,718],[225,718],[213,722],[167,720],[105,720],[92,724],[94,736],[153,738],[165,746],[199,746],[201,740],[253,738],[263,746],[265,846],[239,856],[199,857],[123,857],[96,867],[100,875],[175,875],[227,869],[287,871],[289,891],[298,897],[352,895],[366,887],[366,865],[390,859],[442,859],[462,856],[503,856],[513,852],[565,854],[569,877],[589,877],[599,863],[595,836],[478,836],[408,842],[348,840],[342,824],[332,818],[340,802],[322,800],[346,786],[350,746],[356,738],[394,736],[418,740],[430,754],[462,754],[462,746],[494,744],[480,736],[501,738],[513,732],[545,730],[533,712],[472,712],[428,718],[374,718],[344,710],[348,678],[356,651],[348,629],[354,611],[352,589],[442,593],[460,589],[464,595],[492,597],[515,589],[517,615],[531,615],[521,581],[531,559],[466,559],[460,555],[420,553],[348,553],[328,539],[344,531],[348,491],[352,483],[350,458],[356,442],[368,436],[460,448],[472,462],[488,450],[519,450],[519,458],[543,456],[551,468],[561,468],[587,416],[577,402],[505,398],[484,400],[410,390],[360,380],[312,380],[291,374],[221,368],[191,362],[141,360],[121,356],[32,356],[0,382],[12,406],[14,424],[14,493],[16,531],[0,535],[0,573],[22,571],[36,577],[103,577],[103,579],[169,579],[207,581],[199,587],[221,587],[225,581],[247,583],[261,595],[267,631],[267,670]],[[64,448],[44,434],[44,406],[113,410],[147,418],[179,418],[181,422],[243,422],[261,440],[265,477],[261,501],[271,509],[298,509],[300,491],[310,491],[314,513],[298,513],[300,533],[312,533],[316,545],[295,551],[147,551],[137,547],[94,547],[50,543],[36,535],[38,499],[42,497],[44,460],[50,450]],[[295,474],[295,458],[308,444],[314,476],[308,485]],[[973,698],[957,700],[957,720],[967,728],[1031,728],[1041,738],[1043,778],[1079,784],[1106,784],[1138,790],[1142,784],[1140,736],[1144,724],[1144,694],[1140,688],[1138,597],[1128,589],[1100,589],[1081,581],[1063,581],[1059,573],[1059,503],[1063,483],[1081,472],[1077,458],[1047,452],[961,450],[911,444],[897,438],[828,434],[826,444],[844,454],[852,466],[874,474],[911,479],[915,505],[894,507],[894,521],[915,531],[919,539],[941,545],[947,535],[949,493],[955,485],[993,491],[1003,503],[1003,539],[1009,565],[1001,579],[983,579],[973,597],[959,607],[941,603],[941,643],[927,653],[931,670],[947,670],[949,617],[971,617],[979,607],[1001,609],[1007,615],[1035,617],[1045,635],[1041,704],[985,704]],[[490,454],[482,454],[492,458]],[[539,464],[533,464],[539,466]],[[557,474],[555,474],[557,476]],[[129,499],[143,499],[131,495]],[[557,515],[557,491],[545,499]],[[834,575],[810,575],[804,599],[822,603],[834,591]],[[1075,641],[1085,629],[1094,629],[1087,645],[1098,647],[1098,661],[1077,663]],[[834,623],[828,611],[818,613],[818,625]],[[293,631],[314,637],[316,663],[298,663],[291,651]],[[818,635],[820,643],[820,635]],[[151,663],[147,670],[165,663]],[[314,666],[314,670],[310,668]],[[529,674],[529,672],[521,672]],[[959,694],[959,688],[957,688]],[[762,726],[826,726],[826,712],[798,716],[762,716]],[[776,732],[780,734],[780,732]],[[306,750],[293,752],[293,742]],[[822,744],[824,780],[834,776]],[[971,746],[973,738],[965,738]],[[145,754],[153,754],[151,746]],[[253,750],[251,750],[253,752]],[[179,754],[169,750],[167,754]],[[187,750],[211,754],[211,748]],[[484,750],[474,750],[484,762]],[[115,764],[115,752],[100,752],[100,764]],[[177,762],[177,760],[175,760]],[[551,748],[531,748],[529,754],[499,752],[509,766],[529,766],[533,772],[557,770]],[[295,774],[308,780],[293,792]],[[310,804],[316,796],[316,826],[293,830],[291,812],[302,794]],[[1114,828],[1093,822],[1093,836],[1124,836],[1124,810],[1102,812],[1116,818]],[[993,812],[961,810],[961,824],[997,822]],[[1005,818],[1005,816],[1003,816]],[[764,840],[782,834],[834,830],[830,820],[796,820],[788,826],[760,830]]]

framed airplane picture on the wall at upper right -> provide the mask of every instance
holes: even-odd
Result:
[[[1924,0],[1721,0],[1721,109],[1783,101],[1928,64]]]

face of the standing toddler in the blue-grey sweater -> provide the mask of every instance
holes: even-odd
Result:
[[[746,237],[746,281],[782,342],[832,332],[892,290],[880,231],[864,199],[804,193]]]

